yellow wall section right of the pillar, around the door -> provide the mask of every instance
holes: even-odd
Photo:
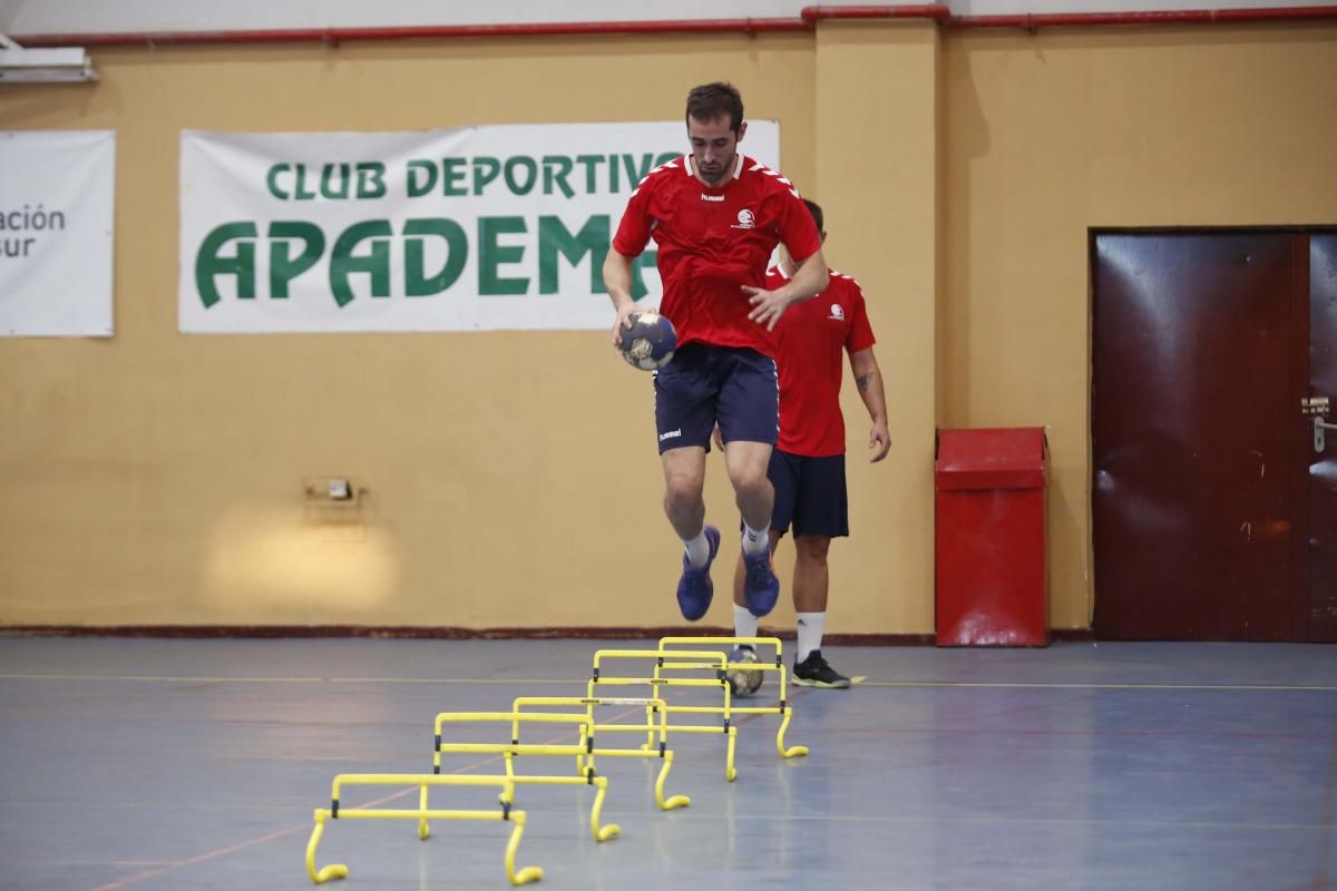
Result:
[[[1337,222],[1334,84],[1330,25],[945,43],[943,425],[1050,426],[1051,625],[1094,604],[1088,228]]]

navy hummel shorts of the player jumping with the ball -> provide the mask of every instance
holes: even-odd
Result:
[[[775,359],[745,346],[689,343],[655,371],[655,434],[659,454],[705,446],[719,423],[725,442],[779,438],[779,375]]]

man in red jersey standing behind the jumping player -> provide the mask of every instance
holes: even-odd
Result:
[[[822,208],[805,200],[821,239]],[[796,278],[809,262],[800,260]],[[785,281],[781,270],[766,275],[767,286]],[[849,679],[822,659],[826,624],[826,593],[830,576],[826,554],[832,538],[849,534],[845,486],[845,418],[840,410],[841,353],[849,354],[850,371],[873,427],[868,435],[872,461],[892,448],[886,431],[886,397],[882,374],[873,355],[873,330],[864,309],[864,291],[849,275],[830,270],[830,286],[785,314],[775,326],[775,361],[779,365],[779,445],[770,456],[769,477],[775,489],[770,521],[771,546],[794,525],[794,610],[798,613],[798,648],[794,683],[804,687],[845,689]],[[743,566],[734,578],[734,633],[757,636],[757,616],[743,606]],[[735,661],[757,656],[741,648]],[[761,672],[754,675],[754,684]],[[735,684],[737,685],[737,684]]]

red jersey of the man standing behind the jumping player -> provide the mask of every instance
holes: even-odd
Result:
[[[779,442],[777,449],[818,458],[845,454],[845,417],[840,410],[842,353],[876,343],[864,307],[864,291],[849,275],[830,270],[825,291],[785,310],[775,323],[779,366]],[[778,270],[766,287],[785,282]]]

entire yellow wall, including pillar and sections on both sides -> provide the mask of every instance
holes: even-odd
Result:
[[[0,341],[0,624],[681,622],[648,379],[604,334],[180,335],[182,128],[662,120],[695,83],[738,84],[826,206],[888,377],[886,465],[864,465],[846,394],[834,633],[932,629],[935,423],[1050,425],[1051,624],[1087,627],[1088,227],[1337,222],[1332,27],[822,23],[95,60],[95,87],[0,92],[0,130],[118,131],[116,337]],[[731,526],[722,469],[709,516]],[[370,488],[360,522],[303,514],[314,474]]]

